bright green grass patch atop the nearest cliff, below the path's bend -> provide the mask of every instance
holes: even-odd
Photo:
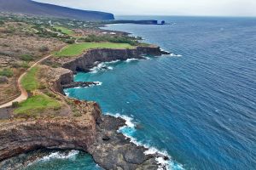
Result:
[[[32,96],[19,104],[15,109],[17,115],[37,116],[45,110],[58,110],[61,104],[45,94]]]

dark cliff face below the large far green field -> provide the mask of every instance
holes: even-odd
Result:
[[[67,68],[73,72],[76,71],[90,71],[90,68],[94,67],[96,62],[108,62],[116,59],[143,59],[144,54],[158,56],[163,54],[160,47],[141,46],[137,48],[127,49],[113,49],[113,48],[97,48],[90,49],[84,54],[72,58],[60,58],[55,59],[54,62],[61,63],[62,67]]]

